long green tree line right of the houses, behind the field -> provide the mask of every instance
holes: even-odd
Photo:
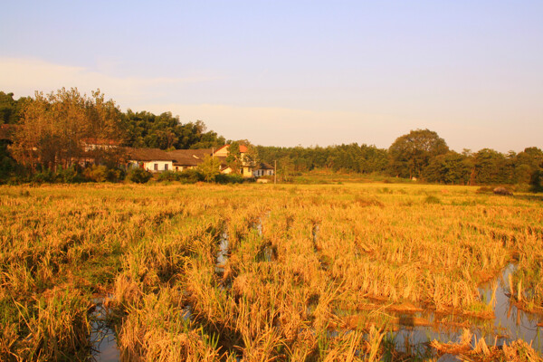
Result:
[[[257,147],[262,160],[278,161],[285,178],[311,171],[378,174],[448,185],[524,184],[539,189],[543,151],[536,147],[502,154],[491,148],[458,153],[429,129],[415,129],[395,139],[390,148],[343,144],[311,148]]]

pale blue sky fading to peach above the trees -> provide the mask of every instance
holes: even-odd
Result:
[[[543,148],[543,1],[11,1],[0,90],[100,89],[263,146]]]

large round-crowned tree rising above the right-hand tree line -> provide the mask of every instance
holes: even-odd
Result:
[[[395,176],[420,177],[430,158],[443,155],[449,147],[443,138],[429,129],[416,129],[396,138],[388,148],[390,169]]]

